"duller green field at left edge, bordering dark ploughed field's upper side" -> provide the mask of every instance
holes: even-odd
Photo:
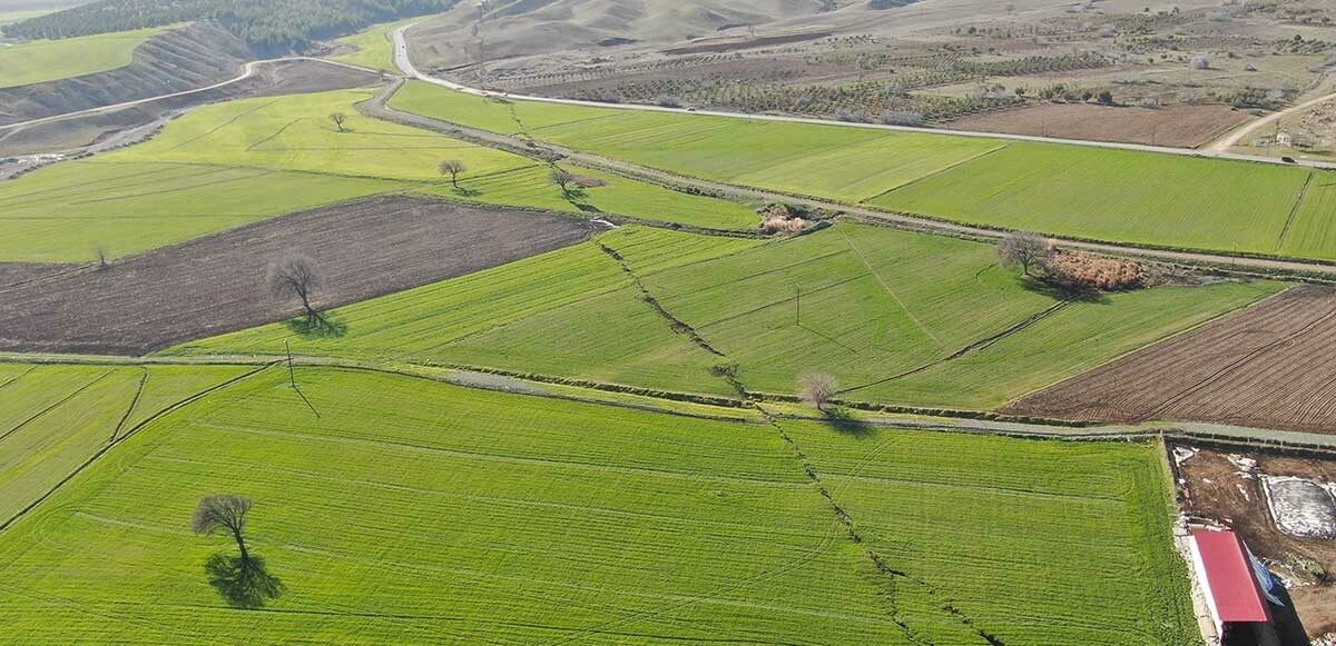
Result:
[[[394,182],[151,162],[65,162],[0,183],[0,260],[118,259],[294,211],[401,191]]]

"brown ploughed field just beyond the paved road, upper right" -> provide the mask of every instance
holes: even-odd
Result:
[[[1194,148],[1248,119],[1248,112],[1236,111],[1229,105],[1168,105],[1149,109],[1046,103],[966,116],[945,123],[943,127],[1006,135]]]

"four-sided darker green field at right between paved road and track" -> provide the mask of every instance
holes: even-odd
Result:
[[[1015,143],[872,203],[1053,235],[1271,254],[1309,172]],[[1336,247],[1316,251],[1336,258]]]

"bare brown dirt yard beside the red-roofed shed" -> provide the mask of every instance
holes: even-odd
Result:
[[[1174,447],[1180,452],[1185,444]],[[1242,460],[1240,460],[1242,458]],[[1256,468],[1241,464],[1255,460]],[[1238,533],[1248,547],[1280,575],[1308,637],[1336,631],[1336,541],[1285,534],[1267,506],[1261,475],[1336,482],[1331,459],[1268,452],[1230,454],[1202,448],[1174,467],[1181,506],[1189,521],[1221,525]],[[1329,574],[1317,583],[1297,571],[1299,563],[1319,563]],[[1285,614],[1281,613],[1280,617]],[[1296,635],[1297,637],[1297,635]],[[1285,643],[1307,643],[1300,639]]]

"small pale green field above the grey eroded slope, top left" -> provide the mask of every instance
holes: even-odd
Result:
[[[162,31],[138,29],[0,47],[0,88],[72,79],[126,67],[131,63],[135,48]]]

